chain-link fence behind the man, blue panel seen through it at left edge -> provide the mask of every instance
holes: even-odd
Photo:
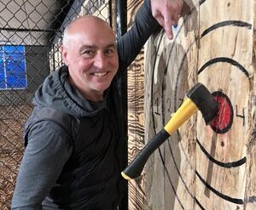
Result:
[[[32,97],[62,65],[62,32],[70,20],[94,14],[115,25],[111,0],[1,0],[0,209],[10,209]]]

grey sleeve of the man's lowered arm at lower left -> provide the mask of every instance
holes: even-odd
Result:
[[[33,125],[20,163],[12,209],[42,209],[42,201],[58,179],[71,154],[68,134],[55,122]]]

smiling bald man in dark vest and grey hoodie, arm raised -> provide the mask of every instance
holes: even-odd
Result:
[[[152,1],[164,26],[167,14],[160,17],[158,9],[179,0]],[[26,122],[12,209],[119,209],[127,144],[120,81],[160,27],[150,3],[143,3],[118,42],[108,24],[93,16],[67,26],[61,47],[65,65],[38,88]]]

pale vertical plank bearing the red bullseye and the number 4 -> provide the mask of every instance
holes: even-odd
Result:
[[[216,132],[201,114],[197,118],[196,197],[206,209],[243,208],[253,87],[252,8],[253,1],[221,0],[207,1],[200,9],[198,81],[218,92],[224,105],[220,120],[225,121],[213,126]]]

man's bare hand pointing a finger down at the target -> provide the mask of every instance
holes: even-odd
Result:
[[[173,38],[172,26],[177,21],[183,9],[183,0],[151,0],[152,15],[162,26],[168,38]]]

